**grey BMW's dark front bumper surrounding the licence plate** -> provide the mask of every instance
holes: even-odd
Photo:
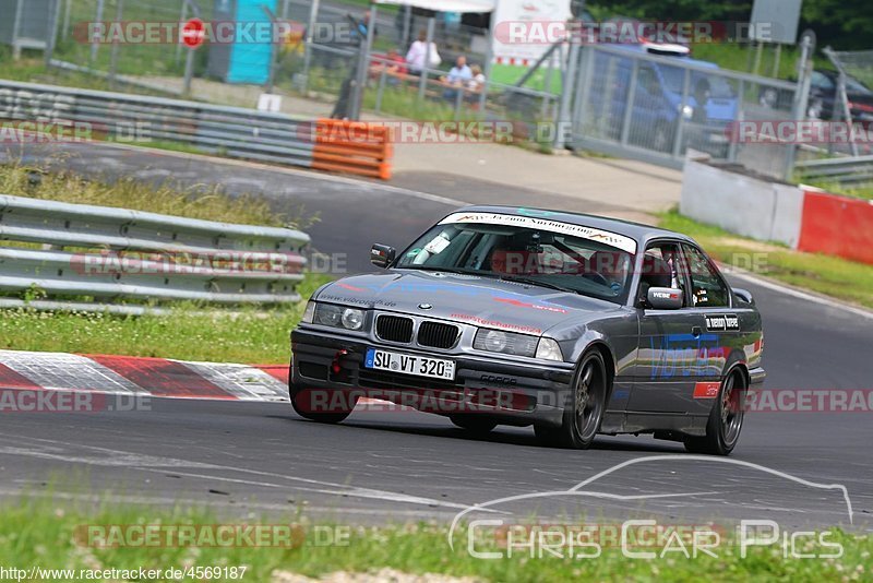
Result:
[[[364,368],[364,355],[371,347],[454,360],[455,380]],[[304,328],[291,333],[291,349],[295,390],[354,393],[440,415],[482,415],[507,425],[560,425],[573,377],[573,365],[567,362],[516,364],[499,355],[428,352]]]

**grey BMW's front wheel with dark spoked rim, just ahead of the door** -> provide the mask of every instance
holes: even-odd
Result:
[[[534,432],[543,444],[587,450],[600,430],[607,404],[609,378],[603,357],[591,350],[582,357],[564,403],[560,427],[535,425]]]

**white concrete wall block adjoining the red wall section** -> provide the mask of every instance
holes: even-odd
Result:
[[[800,239],[803,192],[711,166],[708,156],[691,151],[685,158],[680,212],[738,235],[793,248]]]

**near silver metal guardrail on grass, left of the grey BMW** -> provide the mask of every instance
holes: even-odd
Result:
[[[0,195],[0,240],[41,245],[0,248],[7,294],[287,304],[300,299],[310,239],[289,228]]]

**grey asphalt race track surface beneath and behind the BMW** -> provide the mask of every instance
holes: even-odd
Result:
[[[174,179],[220,182],[231,192],[260,185],[277,209],[303,202],[322,215],[310,229],[319,249],[355,253],[351,269],[366,264],[372,239],[400,246],[456,205],[303,172],[89,147],[89,164],[65,164],[107,176],[154,172],[153,179],[169,170]],[[513,197],[490,202],[516,203]],[[734,284],[755,295],[765,319],[768,388],[871,389],[873,319],[770,286]],[[110,493],[162,505],[210,504],[231,514],[302,509],[370,523],[449,521],[471,504],[551,491],[474,515],[770,519],[788,528],[848,525],[842,490],[821,487],[840,485],[852,528],[870,532],[871,415],[752,413],[726,461],[690,456],[680,444],[649,437],[601,437],[588,451],[539,447],[529,428],[498,428],[477,439],[416,412],[360,411],[338,426],[270,403],[155,400],[152,411],[128,413],[10,413],[0,425],[0,495],[38,495],[50,485],[52,496],[70,498]],[[603,472],[575,495],[560,493]]]

